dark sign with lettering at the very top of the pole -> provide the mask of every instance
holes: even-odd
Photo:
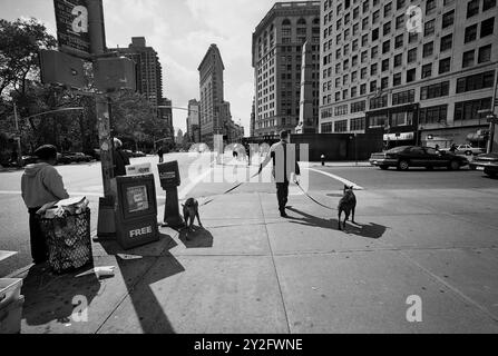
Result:
[[[91,48],[87,1],[53,0],[53,4],[59,49],[80,58],[89,58]]]

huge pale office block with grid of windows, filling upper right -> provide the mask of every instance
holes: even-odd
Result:
[[[484,147],[478,111],[494,95],[496,0],[322,0],[321,19],[321,132]]]

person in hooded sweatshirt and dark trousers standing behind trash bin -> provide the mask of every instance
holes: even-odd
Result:
[[[35,151],[37,164],[26,167],[21,179],[22,199],[29,212],[31,257],[36,265],[48,260],[47,238],[41,230],[37,211],[49,202],[68,199],[62,177],[52,166],[57,162],[57,148],[46,145]]]

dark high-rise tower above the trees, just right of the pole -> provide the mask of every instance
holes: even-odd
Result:
[[[147,47],[144,37],[134,37],[128,48],[109,50],[135,61],[137,91],[145,95],[147,100],[157,107],[163,99],[163,69],[154,48]]]

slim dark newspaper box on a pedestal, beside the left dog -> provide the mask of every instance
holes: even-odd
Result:
[[[164,209],[163,227],[177,228],[184,221],[179,215],[178,187],[182,184],[178,161],[170,161],[157,166],[159,170],[160,186],[166,190],[166,207]]]

